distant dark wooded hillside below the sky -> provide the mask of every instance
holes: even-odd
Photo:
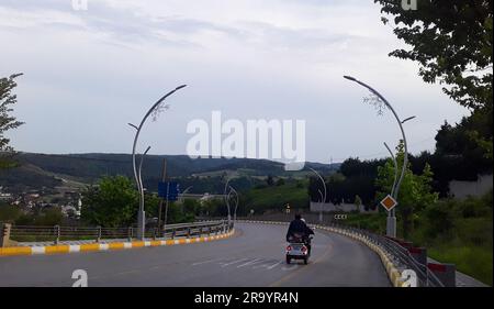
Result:
[[[162,159],[167,159],[168,177],[221,177],[235,172],[236,176],[292,176],[307,172],[285,172],[283,164],[267,159],[251,158],[197,158],[187,155],[147,155],[143,165],[145,184],[156,184],[161,177]],[[58,186],[60,179],[80,183],[94,183],[104,175],[125,175],[133,177],[132,156],[130,154],[36,154],[20,153],[20,167],[0,170],[0,186],[16,188],[41,188]],[[306,163],[312,167],[329,173],[339,164],[325,165]],[[307,169],[308,170],[308,169]]]

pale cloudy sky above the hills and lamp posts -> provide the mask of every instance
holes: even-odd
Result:
[[[440,124],[468,111],[416,64],[390,58],[406,47],[371,0],[0,0],[0,76],[18,79],[8,134],[19,151],[130,153],[146,110],[168,90],[170,110],[143,129],[141,148],[184,154],[187,124],[224,120],[305,120],[306,158],[327,163],[386,154],[400,131],[377,115],[379,89],[406,123],[412,153],[434,150]]]

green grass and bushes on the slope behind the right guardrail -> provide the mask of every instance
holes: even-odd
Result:
[[[453,263],[459,272],[493,284],[493,192],[465,200],[444,199],[414,213],[407,241],[425,246],[431,258]],[[386,213],[348,214],[345,224],[385,234]],[[403,217],[397,216],[398,238]]]

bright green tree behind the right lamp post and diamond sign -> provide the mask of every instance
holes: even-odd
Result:
[[[397,168],[401,172],[405,155],[403,142],[398,144],[396,151]],[[378,167],[378,178],[375,179],[378,200],[391,192],[394,174],[394,164],[391,158],[383,166]],[[397,196],[398,205],[396,206],[396,211],[401,214],[402,232],[405,239],[414,229],[414,213],[438,200],[438,194],[433,192],[431,183],[433,172],[428,164],[425,165],[420,175],[415,175],[412,172],[411,164],[407,164]]]

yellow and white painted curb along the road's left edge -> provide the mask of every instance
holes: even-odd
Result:
[[[133,247],[146,247],[146,246],[202,243],[231,238],[234,233],[235,229],[232,229],[232,231],[224,234],[198,236],[190,239],[154,240],[154,241],[149,240],[149,241],[89,243],[89,244],[63,244],[63,245],[44,245],[44,246],[10,246],[10,247],[8,246],[8,247],[0,247],[0,256],[94,252],[108,250],[125,250]]]

